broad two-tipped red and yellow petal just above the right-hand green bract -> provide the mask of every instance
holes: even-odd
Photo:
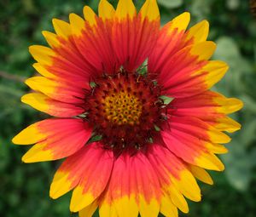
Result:
[[[220,61],[207,61],[215,48],[216,45],[212,42],[197,43],[169,58],[158,79],[164,92],[172,97],[182,98],[200,94],[217,83],[228,66]]]

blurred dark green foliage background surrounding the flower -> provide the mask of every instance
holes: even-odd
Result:
[[[111,1],[116,5],[117,1]],[[139,8],[143,1],[135,1]],[[230,71],[217,89],[244,101],[233,117],[242,124],[222,157],[224,174],[211,173],[214,186],[201,185],[202,202],[190,203],[180,216],[256,216],[256,19],[247,0],[158,0],[162,24],[183,11],[191,25],[207,19],[209,38],[218,43],[214,59],[225,60]],[[0,216],[67,217],[70,194],[49,198],[49,185],[60,162],[21,163],[28,147],[14,146],[11,138],[30,123],[47,117],[20,103],[29,91],[22,81],[31,77],[32,57],[27,47],[46,44],[42,30],[53,31],[52,18],[82,14],[84,4],[97,9],[98,1],[1,0],[0,1]],[[97,215],[96,215],[97,216]]]

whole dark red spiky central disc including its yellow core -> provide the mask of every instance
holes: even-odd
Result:
[[[160,87],[138,73],[119,71],[94,82],[85,99],[88,121],[103,144],[117,151],[140,149],[154,139],[164,120]]]

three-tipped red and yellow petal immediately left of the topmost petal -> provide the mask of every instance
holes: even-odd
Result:
[[[73,40],[84,60],[95,68],[94,77],[119,70],[111,43],[113,7],[106,0],[101,1],[100,5],[100,17],[97,17],[88,6],[84,7],[85,20],[76,14],[70,14]],[[108,12],[102,8],[104,5],[108,5]]]

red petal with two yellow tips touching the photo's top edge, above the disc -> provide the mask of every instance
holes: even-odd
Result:
[[[160,27],[155,0],[147,0],[137,14],[131,0],[120,0],[113,21],[113,49],[126,71],[135,71],[151,53]]]

